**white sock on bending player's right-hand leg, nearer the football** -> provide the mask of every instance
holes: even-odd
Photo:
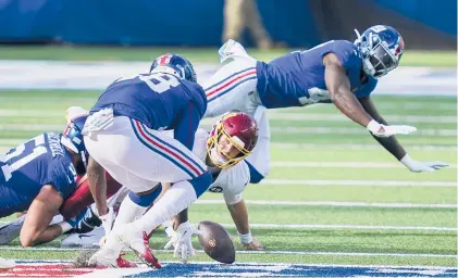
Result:
[[[133,223],[135,231],[150,233],[156,227],[187,208],[197,200],[189,181],[174,184],[141,218]]]

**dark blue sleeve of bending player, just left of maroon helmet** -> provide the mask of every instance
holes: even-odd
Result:
[[[182,117],[174,129],[173,138],[186,146],[190,151],[193,150],[194,139],[200,118],[200,111],[194,102],[189,102],[188,108],[182,114]]]

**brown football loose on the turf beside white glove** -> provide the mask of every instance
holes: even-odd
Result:
[[[235,247],[228,231],[218,223],[200,222],[198,226],[202,235],[199,243],[203,251],[216,262],[232,264],[235,262]]]

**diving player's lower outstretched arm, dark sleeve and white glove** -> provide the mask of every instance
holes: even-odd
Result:
[[[361,103],[362,108],[379,123],[382,125],[388,126],[388,123],[380,115],[379,111],[375,108],[375,104],[373,103],[372,99],[368,97],[363,97],[358,99]],[[376,137],[372,135],[375,140],[379,141],[380,144],[385,148],[391,154],[393,154],[398,161],[400,161],[407,168],[409,168],[411,172],[434,172],[436,169],[440,169],[442,167],[448,166],[447,163],[442,161],[433,161],[433,162],[419,162],[413,159],[411,159],[406,150],[400,146],[398,140],[395,136],[391,137]]]

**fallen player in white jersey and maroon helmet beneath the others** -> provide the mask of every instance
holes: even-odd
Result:
[[[173,137],[172,132],[163,132]],[[249,169],[243,159],[255,148],[257,136],[257,125],[251,116],[239,112],[230,113],[216,123],[210,134],[199,128],[196,131],[196,139],[193,147],[193,152],[202,160],[212,174],[213,182],[208,191],[224,195],[239,239],[247,250],[262,249],[262,245],[251,236],[248,210],[242,197],[245,186],[249,182]],[[112,182],[117,184],[117,181],[111,180],[107,182],[107,188],[115,186]],[[61,211],[81,211],[82,203],[88,205],[92,202],[91,195],[87,194],[87,187],[88,185],[85,182],[74,193],[74,195],[78,195],[76,200],[81,200],[81,202],[65,202]],[[162,188],[164,190],[164,186]],[[91,224],[99,222],[97,215],[90,212],[91,210],[88,211],[87,217],[83,218],[82,224],[77,225],[86,231],[90,229]],[[169,248],[174,245],[178,235],[171,228],[166,230],[172,238],[166,244]],[[69,236],[62,241],[62,244],[63,247],[94,245],[103,236],[103,229],[96,229],[84,237],[79,237],[79,235]]]

